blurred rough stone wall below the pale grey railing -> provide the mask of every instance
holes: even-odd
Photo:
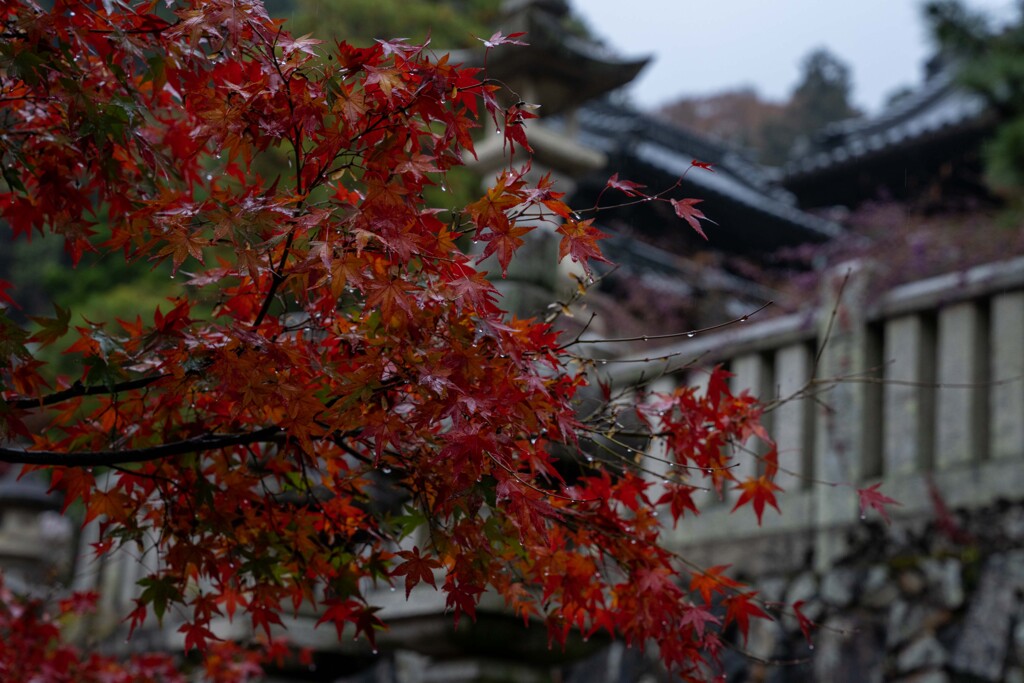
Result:
[[[830,568],[767,573],[769,603],[804,601],[818,624],[752,624],[730,681],[1024,683],[1024,503],[865,523]]]

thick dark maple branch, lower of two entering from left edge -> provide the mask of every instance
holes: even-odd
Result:
[[[260,442],[280,442],[285,431],[281,427],[263,427],[256,431],[239,434],[202,434],[160,445],[120,451],[24,451],[22,449],[0,447],[0,462],[14,465],[43,465],[48,467],[103,467],[126,465],[161,460],[186,453],[216,451],[232,445]]]

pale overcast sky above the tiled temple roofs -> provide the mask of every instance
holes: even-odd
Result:
[[[654,56],[631,86],[645,109],[739,85],[784,99],[803,56],[825,46],[850,66],[854,102],[873,112],[921,81],[931,46],[921,0],[571,1],[620,53]],[[970,5],[1013,14],[1012,0]]]

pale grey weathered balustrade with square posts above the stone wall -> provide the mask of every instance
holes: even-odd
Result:
[[[933,514],[933,492],[948,507],[1024,496],[1024,259],[881,296],[872,271],[856,262],[827,273],[815,310],[684,338],[612,371],[618,385],[665,374],[664,388],[699,382],[700,368],[722,362],[735,388],[781,399],[766,422],[783,470],[782,514],[769,511],[758,527],[751,515],[729,515],[727,498],[681,522],[672,543],[705,548],[717,564],[726,552],[752,571],[752,562],[800,561],[809,551],[824,566],[860,522],[853,488],[827,482],[884,482],[904,523]],[[757,466],[750,458],[738,467]],[[780,533],[800,542],[779,545]],[[735,544],[771,537],[769,552]]]

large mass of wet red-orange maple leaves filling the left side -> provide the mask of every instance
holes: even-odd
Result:
[[[429,585],[456,621],[494,592],[555,642],[653,642],[700,676],[727,628],[767,614],[722,567],[663,548],[663,521],[734,486],[760,518],[777,460],[735,480],[727,446],[770,439],[725,372],[583,411],[587,359],[501,309],[478,266],[506,270],[539,218],[562,258],[604,258],[593,219],[527,179],[528,110],[427,46],[321,46],[245,0],[157,5],[0,14],[6,229],[62,236],[76,262],[169,262],[180,283],[145,318],[57,302],[27,329],[0,283],[0,460],[46,469],[100,525],[96,552],[158,551],[131,627],[174,610],[185,649],[210,652],[217,620],[269,636],[302,608],[372,644],[375,591]],[[481,121],[519,165],[461,210],[431,208]],[[288,168],[263,177],[272,155]],[[699,231],[695,201],[672,201]],[[54,376],[47,347],[81,373]],[[656,480],[653,445],[595,452],[627,412],[664,440]]]

